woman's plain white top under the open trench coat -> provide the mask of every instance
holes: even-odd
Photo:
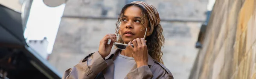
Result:
[[[120,52],[116,53],[114,62],[114,79],[124,79],[129,71],[136,64],[133,57],[121,55]]]

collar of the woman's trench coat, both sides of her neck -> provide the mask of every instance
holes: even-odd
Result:
[[[118,51],[121,51],[121,50],[119,50],[117,48],[112,49],[110,54],[108,56],[106,56],[105,59],[107,59],[107,60],[112,59],[116,55],[116,52],[118,52]],[[154,60],[149,54],[148,54],[148,65],[150,65],[150,66],[154,65]]]

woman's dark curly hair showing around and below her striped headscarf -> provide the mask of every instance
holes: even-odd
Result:
[[[146,19],[148,20],[148,14],[147,14],[147,11],[145,8],[143,8],[143,6],[140,6],[138,4],[134,4],[134,3],[130,3],[130,4],[126,4],[120,14],[118,15],[118,20],[116,21],[116,35],[119,34],[119,25],[122,21],[122,17],[124,15],[124,12],[125,10],[129,7],[129,6],[137,6],[139,7],[141,10],[142,10],[142,22],[141,22],[141,25],[143,26],[143,29],[145,29],[144,27],[144,23],[146,21]],[[150,23],[148,24],[148,27],[150,27]],[[152,30],[152,29],[151,29]],[[157,62],[160,62],[163,64],[163,59],[162,59],[162,56],[163,56],[163,52],[161,51],[161,48],[162,46],[164,45],[164,42],[165,42],[165,39],[163,37],[163,28],[160,24],[156,25],[154,27],[154,30],[153,32],[151,33],[150,36],[147,36],[145,38],[145,40],[147,40],[146,44],[147,44],[147,47],[148,47],[148,54],[153,58],[155,59]],[[117,42],[119,43],[124,43],[122,41],[122,38],[121,36],[119,35],[119,39],[117,40]]]

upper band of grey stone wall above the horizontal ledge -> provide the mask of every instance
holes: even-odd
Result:
[[[64,15],[116,17],[134,0],[68,0]],[[162,19],[205,20],[207,0],[142,0],[157,8]]]

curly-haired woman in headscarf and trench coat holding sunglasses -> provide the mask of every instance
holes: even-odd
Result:
[[[173,79],[172,73],[161,64],[162,32],[154,6],[142,1],[131,2],[122,8],[116,22],[119,39],[116,40],[115,34],[105,35],[99,51],[68,69],[63,79]],[[109,44],[108,40],[111,40]],[[122,43],[123,48],[114,42]],[[118,49],[111,50],[114,44]]]

